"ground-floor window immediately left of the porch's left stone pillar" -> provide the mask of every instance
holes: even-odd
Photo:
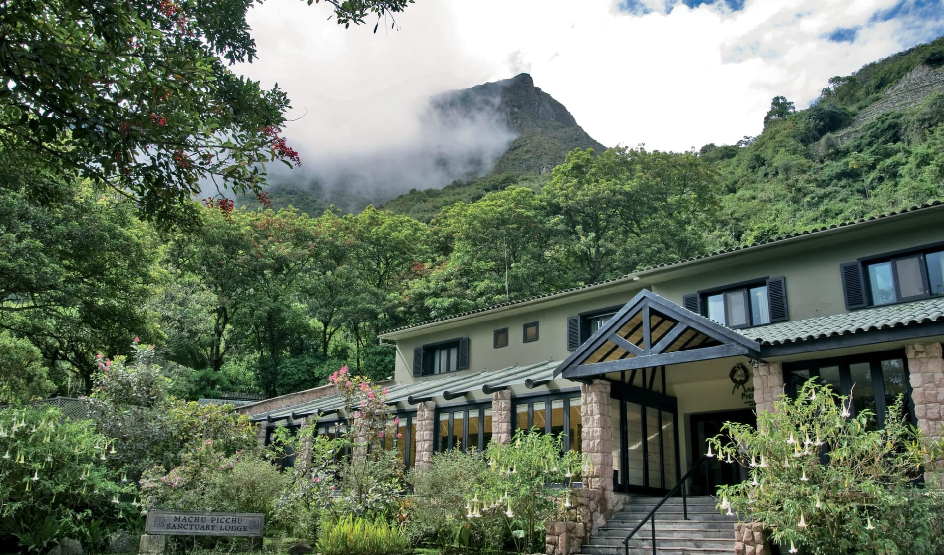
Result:
[[[514,400],[515,429],[564,434],[565,452],[581,450],[581,394],[538,395]]]

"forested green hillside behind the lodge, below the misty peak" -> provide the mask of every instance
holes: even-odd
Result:
[[[168,226],[74,172],[0,172],[0,403],[87,393],[97,354],[135,336],[187,398],[285,394],[343,363],[386,377],[385,328],[944,195],[942,40],[831,79],[808,109],[775,98],[760,136],[699,152],[593,142],[545,168],[593,140],[531,98],[551,117],[510,112],[511,144],[531,141],[494,172],[390,210],[215,198]]]

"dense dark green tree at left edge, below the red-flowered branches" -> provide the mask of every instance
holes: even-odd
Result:
[[[144,311],[155,237],[130,203],[47,177],[34,188],[0,175],[0,329],[91,391],[97,352],[124,352],[128,329],[156,333]]]

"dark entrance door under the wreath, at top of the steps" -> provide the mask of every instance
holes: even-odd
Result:
[[[692,430],[692,463],[698,463],[708,452],[707,440],[721,433],[725,422],[740,422],[756,426],[757,418],[750,409],[742,411],[709,412],[693,414],[689,420]],[[736,463],[723,463],[717,457],[708,459],[707,471],[701,471],[690,482],[693,496],[714,496],[719,485],[740,483],[747,478],[744,468]]]

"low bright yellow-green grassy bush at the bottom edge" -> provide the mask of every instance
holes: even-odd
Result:
[[[403,530],[386,520],[347,515],[322,525],[315,551],[321,555],[396,555],[407,551]]]

